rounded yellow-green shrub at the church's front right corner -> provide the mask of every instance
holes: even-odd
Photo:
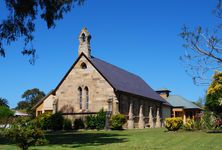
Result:
[[[126,118],[122,114],[113,115],[111,118],[111,129],[121,130],[126,123]]]

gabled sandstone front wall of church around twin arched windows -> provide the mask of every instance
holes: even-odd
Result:
[[[83,62],[87,66],[86,69],[81,67]],[[83,90],[82,109],[80,109],[79,87]],[[86,109],[85,87],[89,89],[88,110]],[[109,83],[82,56],[56,91],[56,97],[58,98],[58,110],[64,113],[98,112],[102,108],[108,109],[107,100],[115,97],[115,93]]]

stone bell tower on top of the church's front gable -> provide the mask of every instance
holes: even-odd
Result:
[[[84,27],[79,34],[78,56],[81,53],[84,53],[88,58],[91,57],[90,40],[91,35],[88,32],[87,28]]]

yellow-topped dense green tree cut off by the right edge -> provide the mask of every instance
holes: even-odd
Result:
[[[222,117],[222,72],[216,72],[207,90],[206,108]]]

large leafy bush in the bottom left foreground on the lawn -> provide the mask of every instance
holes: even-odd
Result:
[[[32,126],[30,122],[14,123],[10,128],[5,129],[3,135],[8,138],[13,143],[21,148],[22,150],[27,150],[29,146],[32,145],[42,145],[47,141],[44,137],[44,133],[41,129]]]

